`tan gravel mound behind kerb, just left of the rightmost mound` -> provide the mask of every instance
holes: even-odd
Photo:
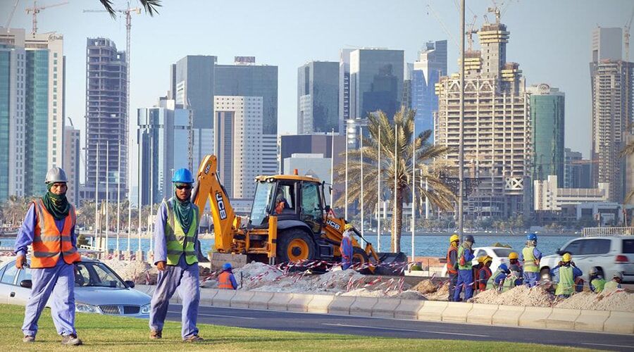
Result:
[[[505,306],[550,307],[554,301],[554,296],[542,287],[529,289],[526,286],[518,286],[503,293],[488,289],[476,295],[473,301],[475,303],[502,304]]]

